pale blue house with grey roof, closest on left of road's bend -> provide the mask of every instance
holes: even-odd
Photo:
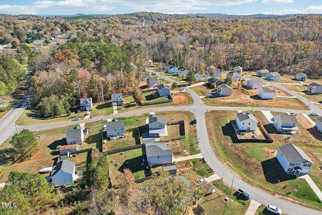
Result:
[[[172,163],[172,149],[165,142],[150,142],[145,144],[146,159],[150,166]]]

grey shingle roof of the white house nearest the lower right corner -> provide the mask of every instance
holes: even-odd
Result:
[[[287,144],[278,148],[283,156],[286,158],[288,162],[313,162],[309,157],[303,152],[303,150],[293,144]]]

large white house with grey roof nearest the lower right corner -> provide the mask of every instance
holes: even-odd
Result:
[[[314,164],[301,148],[293,144],[280,146],[276,158],[286,174],[297,176],[310,173]]]

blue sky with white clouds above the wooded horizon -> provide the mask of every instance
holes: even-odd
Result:
[[[321,0],[0,0],[0,14],[322,14]]]

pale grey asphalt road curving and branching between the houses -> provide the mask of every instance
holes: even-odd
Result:
[[[157,74],[159,75],[159,74]],[[168,80],[169,82],[174,82],[173,80],[163,77],[164,79]],[[309,104],[309,106],[312,108],[310,111],[305,110],[293,110],[293,109],[281,109],[281,108],[261,108],[261,107],[254,107],[254,110],[262,111],[262,110],[268,110],[268,111],[279,111],[279,112],[294,112],[294,113],[303,113],[303,114],[309,114],[310,112],[314,111],[318,114],[322,115],[322,111],[316,107],[314,104],[306,100],[305,98],[299,96],[298,94],[289,91],[283,87],[281,87],[281,83],[267,83],[274,87],[280,88],[287,93],[291,94],[292,96],[296,96],[298,99],[300,99],[305,104]],[[78,123],[87,123],[87,122],[93,122],[97,121],[98,119],[110,119],[114,117],[123,117],[123,116],[130,116],[135,114],[142,114],[142,113],[148,113],[155,110],[162,111],[183,111],[188,110],[195,114],[195,117],[198,121],[197,125],[197,135],[199,138],[199,149],[203,155],[203,157],[207,160],[207,163],[209,166],[216,172],[216,174],[223,178],[223,180],[227,184],[231,184],[233,180],[233,188],[243,188],[247,190],[249,193],[252,194],[252,198],[258,202],[261,202],[265,205],[267,204],[273,204],[278,207],[280,207],[283,210],[283,213],[286,214],[312,214],[312,215],[320,215],[321,211],[312,210],[310,208],[306,208],[303,206],[300,206],[298,204],[294,204],[292,202],[280,199],[278,197],[269,195],[262,190],[253,187],[249,184],[247,184],[245,181],[238,178],[238,176],[233,175],[224,165],[222,165],[219,160],[216,158],[216,156],[213,153],[211,144],[209,142],[208,133],[205,132],[207,130],[206,127],[206,119],[204,117],[204,114],[207,110],[250,110],[252,104],[250,104],[249,107],[216,107],[216,106],[207,106],[205,105],[199,95],[195,93],[194,91],[190,90],[187,87],[183,87],[184,90],[186,90],[193,98],[194,103],[189,106],[184,107],[158,107],[158,108],[150,108],[150,109],[142,109],[142,110],[136,110],[131,112],[124,112],[124,113],[118,113],[113,114],[109,116],[101,116],[101,117],[95,117],[90,119],[84,119],[81,121],[65,121],[65,122],[59,122],[59,123],[50,123],[50,124],[38,124],[38,125],[29,125],[29,126],[17,126],[18,130],[21,130],[23,128],[29,129],[29,130],[42,130],[42,129],[49,129],[49,128],[55,128],[55,127],[63,127],[66,125],[73,125]],[[24,106],[26,107],[25,101],[22,101]],[[7,139],[9,136],[12,136],[16,132],[16,127],[14,125],[15,121],[18,119],[21,113],[23,113],[24,108],[13,108],[2,120],[0,120],[0,145],[2,142]]]

